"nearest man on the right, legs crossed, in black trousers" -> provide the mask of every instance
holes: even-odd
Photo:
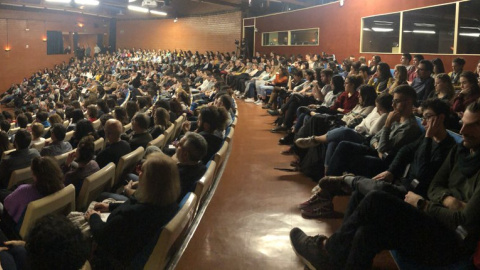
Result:
[[[370,192],[330,238],[292,229],[295,252],[310,269],[370,269],[375,255],[389,249],[427,266],[451,265],[472,254],[477,258],[480,102],[468,106],[462,122],[463,143],[450,151],[435,174],[428,198],[408,192],[402,201],[382,191]]]

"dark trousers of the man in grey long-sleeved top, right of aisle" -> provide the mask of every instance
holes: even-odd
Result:
[[[388,163],[375,156],[372,148],[353,142],[340,142],[328,164],[327,175],[341,175],[350,172],[355,175],[373,177],[388,168]]]

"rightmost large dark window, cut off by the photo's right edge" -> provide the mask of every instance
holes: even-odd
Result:
[[[480,54],[480,1],[460,2],[457,54]]]

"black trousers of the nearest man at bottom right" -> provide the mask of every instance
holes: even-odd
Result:
[[[327,241],[326,249],[343,269],[371,269],[373,258],[382,250],[398,250],[426,265],[448,265],[463,254],[455,231],[382,191],[365,196]]]

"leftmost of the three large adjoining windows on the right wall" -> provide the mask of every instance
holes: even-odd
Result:
[[[398,53],[400,13],[363,18],[362,52]]]

